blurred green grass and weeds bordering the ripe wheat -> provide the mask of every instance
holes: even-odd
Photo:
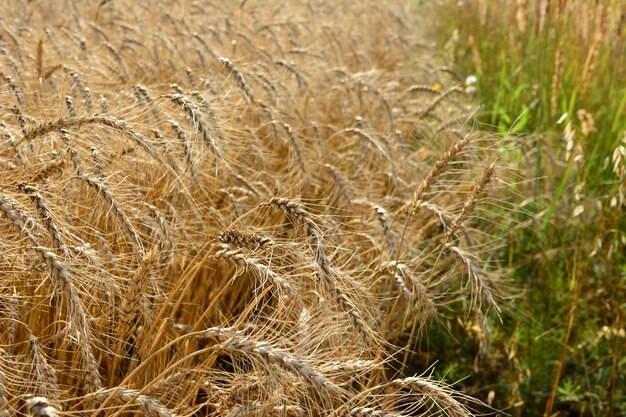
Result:
[[[524,227],[502,232],[520,298],[489,353],[459,320],[431,329],[429,355],[514,416],[626,415],[626,1],[420,7],[441,64],[477,78],[478,128],[521,137],[511,164],[534,178],[516,189]]]

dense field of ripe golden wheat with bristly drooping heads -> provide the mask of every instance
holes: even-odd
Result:
[[[3,2],[2,417],[472,413],[498,146],[391,3]]]

